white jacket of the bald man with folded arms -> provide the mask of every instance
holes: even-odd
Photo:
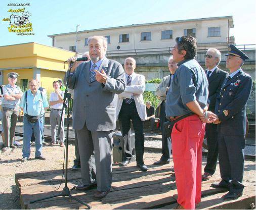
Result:
[[[141,74],[133,73],[131,85],[125,86],[125,91],[118,94],[117,108],[116,108],[117,119],[122,107],[123,99],[131,98],[133,93],[137,93],[138,95],[134,95],[136,109],[141,120],[142,121],[146,120],[147,118],[146,105],[144,103],[143,95],[142,95],[144,91],[145,91],[145,77]]]

